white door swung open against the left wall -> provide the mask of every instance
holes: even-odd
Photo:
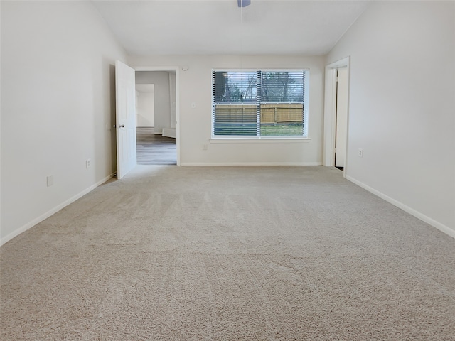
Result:
[[[132,67],[115,62],[117,179],[136,166],[136,85]]]

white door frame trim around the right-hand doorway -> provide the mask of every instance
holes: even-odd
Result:
[[[336,70],[338,67],[348,68],[348,117],[346,129],[346,160],[343,176],[348,168],[348,136],[349,136],[349,82],[350,57],[343,58],[326,65],[326,82],[324,91],[324,138],[323,138],[323,166],[335,166],[335,129],[336,129]]]

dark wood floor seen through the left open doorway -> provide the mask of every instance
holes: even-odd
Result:
[[[176,139],[154,134],[154,128],[137,127],[138,165],[176,165]]]

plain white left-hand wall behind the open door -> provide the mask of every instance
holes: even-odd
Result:
[[[115,171],[125,58],[89,1],[1,1],[1,243]]]

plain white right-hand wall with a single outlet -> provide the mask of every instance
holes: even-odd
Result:
[[[455,237],[454,15],[375,1],[326,63],[350,55],[347,177]]]

